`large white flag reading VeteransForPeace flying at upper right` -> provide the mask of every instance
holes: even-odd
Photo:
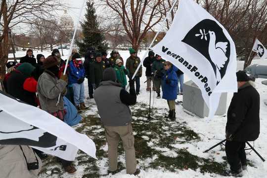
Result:
[[[224,27],[193,0],[180,0],[173,24],[153,51],[201,89],[212,118],[222,92],[236,92],[236,51]]]

